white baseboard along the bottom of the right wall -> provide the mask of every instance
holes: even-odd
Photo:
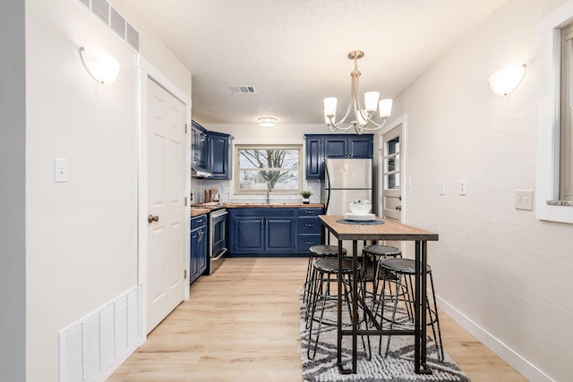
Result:
[[[464,313],[454,308],[447,301],[442,300],[436,296],[440,309],[443,310],[450,318],[458,323],[460,327],[474,335],[477,340],[488,347],[492,352],[495,352],[503,361],[508,362],[509,366],[516,369],[518,373],[527,378],[527,380],[535,382],[555,382],[554,379],[545,374],[541,369],[538,369],[534,364],[527,361],[508,345],[503,344],[498,338],[488,333],[483,327],[477,325],[471,318],[468,318]]]

